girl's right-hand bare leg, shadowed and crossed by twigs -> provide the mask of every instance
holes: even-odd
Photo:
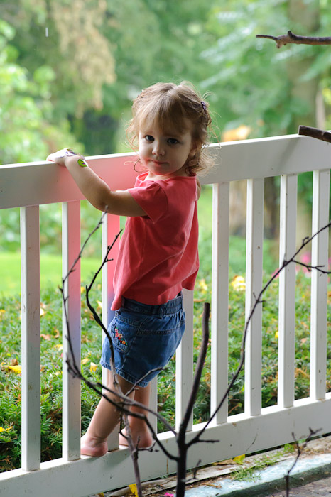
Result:
[[[148,386],[146,387],[138,386],[134,391],[134,400],[148,407],[150,395],[151,395],[151,383],[148,383]],[[133,413],[145,414],[146,416],[148,415],[146,410],[137,408],[134,405],[131,406],[130,410]],[[129,416],[129,425],[131,429],[131,436],[132,439],[134,440],[134,444],[135,445],[138,444],[138,447],[141,449],[146,447],[151,447],[151,444],[153,443],[153,438],[151,436],[151,432],[148,430],[146,422],[140,420],[138,417]],[[122,431],[124,435],[126,435],[126,430]],[[128,444],[126,438],[123,437],[123,435],[121,434],[119,435],[119,443],[121,445]]]

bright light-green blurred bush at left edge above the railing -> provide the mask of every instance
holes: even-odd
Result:
[[[49,65],[30,71],[20,64],[13,43],[16,30],[0,21],[0,148],[1,164],[44,160],[48,141],[60,148],[63,141],[77,146],[65,118],[50,123],[53,104],[50,88],[55,73]],[[82,149],[82,146],[80,146]]]

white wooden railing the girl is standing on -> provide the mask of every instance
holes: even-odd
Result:
[[[247,180],[246,315],[262,285],[264,224],[264,178],[281,176],[280,261],[295,251],[297,175],[313,172],[312,232],[328,221],[331,154],[330,144],[302,136],[262,138],[212,146],[215,170],[202,178],[213,185],[212,220],[212,382],[211,409],[227,388],[229,184]],[[133,185],[135,174],[129,154],[93,157],[89,163],[113,190]],[[63,273],[79,252],[80,200],[82,195],[65,168],[50,163],[0,166],[0,208],[21,207],[22,278],[22,468],[0,475],[1,496],[47,494],[48,497],[89,496],[126,486],[134,481],[127,449],[108,452],[101,458],[80,458],[80,383],[63,366],[63,457],[40,464],[40,318],[39,318],[39,219],[40,204],[64,202]],[[102,243],[114,239],[119,218],[109,216],[103,226]],[[312,246],[312,263],[327,266],[328,234],[323,231]],[[116,251],[112,252],[116,256]],[[103,320],[112,300],[113,266],[103,274]],[[69,280],[69,320],[75,354],[80,356],[80,271]],[[327,276],[312,274],[310,397],[294,400],[295,266],[280,277],[278,405],[261,408],[262,309],[258,307],[249,327],[245,363],[245,413],[228,416],[227,403],[207,428],[206,438],[219,443],[192,446],[188,467],[248,454],[300,439],[309,427],[331,432],[331,395],[326,393]],[[183,343],[176,361],[176,424],[185,410],[192,383],[193,298],[185,292],[188,317]],[[63,340],[63,357],[67,341]],[[156,382],[152,407],[156,407]],[[153,420],[154,425],[156,421]],[[188,439],[202,425],[189,426]],[[170,432],[158,435],[170,451],[175,439]],[[116,447],[116,435],[110,441]],[[194,448],[198,447],[198,448]],[[197,452],[198,451],[198,455]],[[162,452],[139,456],[142,479],[175,471]]]

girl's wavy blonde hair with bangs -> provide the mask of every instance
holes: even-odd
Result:
[[[192,131],[192,140],[197,147],[195,155],[188,160],[189,175],[206,172],[213,160],[206,145],[209,143],[209,126],[212,122],[209,104],[187,82],[180,84],[156,83],[143,89],[134,99],[132,119],[126,136],[131,147],[138,149],[139,129],[157,123],[160,129],[171,131]]]

